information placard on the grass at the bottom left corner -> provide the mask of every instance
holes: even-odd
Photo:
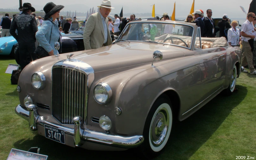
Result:
[[[47,157],[42,154],[12,148],[7,160],[47,160]]]

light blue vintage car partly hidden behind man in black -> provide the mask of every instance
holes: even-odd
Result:
[[[38,27],[40,29],[41,27]],[[64,33],[61,33],[64,34]],[[12,58],[15,57],[15,44],[16,39],[13,36],[0,38],[0,55],[10,55]]]

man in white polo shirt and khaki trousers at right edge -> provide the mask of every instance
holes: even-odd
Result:
[[[246,65],[246,60],[250,70],[250,74],[256,74],[256,70],[253,67],[253,39],[255,39],[255,31],[253,21],[255,20],[255,14],[250,12],[247,14],[247,20],[241,27],[242,46],[244,53],[242,54],[242,66]],[[248,73],[248,71],[243,70]]]

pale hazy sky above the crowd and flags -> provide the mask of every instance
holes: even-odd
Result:
[[[3,1],[3,0],[1,0]],[[36,1],[36,0],[23,0],[22,3],[28,2],[31,3],[36,10],[42,10],[47,1]],[[43,2],[43,3],[42,3]],[[101,0],[52,0],[53,3],[59,5],[64,5],[65,7],[62,11],[75,12],[87,12],[90,8],[96,8],[101,4]],[[75,2],[75,4],[73,3]],[[157,2],[157,3],[156,3]],[[151,13],[152,6],[155,3],[155,13],[162,15],[164,12],[168,13],[169,16],[172,15],[174,2],[172,0],[111,0],[111,5],[115,9],[112,9],[111,15],[118,14],[121,11],[123,6],[123,13]],[[191,9],[191,5],[193,0],[179,0],[176,1],[176,18],[186,17]],[[207,9],[212,9],[213,18],[221,18],[223,14],[227,14],[229,18],[246,18],[245,13],[240,9],[240,5],[243,6],[248,12],[251,0],[243,0],[243,1],[234,1],[234,0],[195,0],[195,10],[203,10],[206,15]],[[19,0],[8,0],[8,3],[1,3],[0,8],[13,8],[16,9],[19,7]]]

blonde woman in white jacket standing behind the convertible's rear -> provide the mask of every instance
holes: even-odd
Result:
[[[227,42],[229,45],[231,45],[232,47],[239,47],[240,46],[240,42],[239,42],[239,29],[236,28],[236,26],[238,26],[237,21],[232,21],[231,22],[231,29],[228,29],[227,31]]]

